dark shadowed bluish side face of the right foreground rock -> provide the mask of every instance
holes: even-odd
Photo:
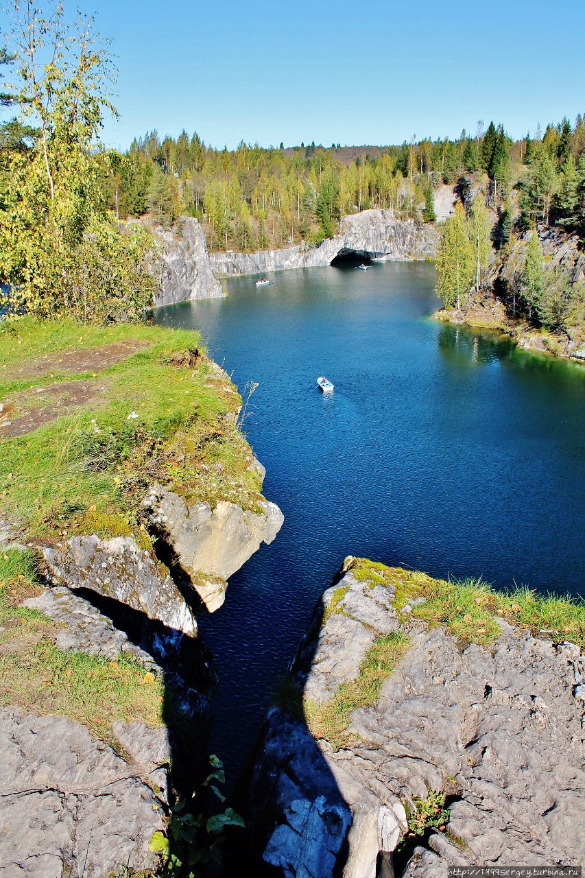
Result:
[[[332,585],[342,575],[338,573]],[[235,809],[245,817],[247,831],[243,840],[241,834],[228,833],[218,875],[340,878],[343,874],[350,853],[350,805],[305,714],[305,686],[323,615],[321,597],[288,673],[277,682],[272,707],[232,796]],[[270,861],[264,860],[264,852]],[[381,848],[375,878],[394,878],[393,854]]]

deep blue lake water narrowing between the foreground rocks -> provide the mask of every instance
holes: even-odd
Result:
[[[241,390],[260,383],[245,428],[285,515],[200,620],[221,678],[212,750],[232,777],[346,555],[585,590],[585,368],[432,320],[430,263],[269,277],[157,312],[198,327]]]

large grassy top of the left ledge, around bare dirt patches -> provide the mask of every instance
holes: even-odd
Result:
[[[71,323],[18,320],[0,325],[0,396],[11,403],[23,385],[10,367],[40,354],[123,339],[152,345],[99,373],[105,401],[24,436],[0,440],[0,511],[34,536],[55,529],[100,536],[138,534],[140,501],[160,480],[188,501],[231,500],[257,509],[263,500],[249,446],[234,426],[240,397],[202,357],[196,370],[168,362],[200,348],[199,334],[161,327],[81,329]],[[85,376],[88,377],[87,375]],[[51,381],[79,376],[54,374]],[[135,413],[137,417],[128,416]],[[140,536],[140,535],[139,535]]]

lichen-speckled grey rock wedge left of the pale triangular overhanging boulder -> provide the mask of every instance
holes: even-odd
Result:
[[[67,543],[43,550],[47,572],[56,585],[88,588],[162,622],[171,630],[194,637],[197,623],[170,576],[162,576],[148,551],[131,536],[100,540],[73,536]]]

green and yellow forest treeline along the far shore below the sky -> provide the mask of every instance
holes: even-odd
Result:
[[[538,215],[561,217],[584,150],[581,116],[574,125],[567,119],[551,124],[542,135],[537,129],[532,139],[513,141],[491,122],[485,131],[480,124],[474,137],[463,131],[455,140],[425,138],[355,159],[338,145],[266,149],[242,141],[228,151],[206,146],[197,133],[161,139],[153,131],[134,140],[126,155],[110,154],[115,173],[106,197],[121,217],[149,210],[171,225],[181,212],[190,213],[208,224],[212,248],[250,250],[318,243],[336,233],[345,214],[370,207],[432,221],[430,185],[453,184],[464,174],[487,175],[488,207],[511,216],[507,202],[527,166],[528,227]]]

